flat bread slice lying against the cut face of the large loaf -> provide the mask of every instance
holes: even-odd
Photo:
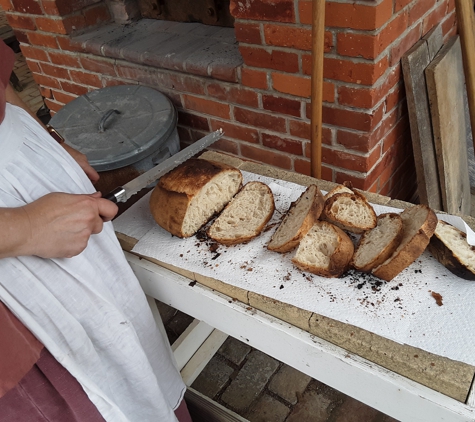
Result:
[[[224,245],[245,243],[258,236],[274,214],[274,195],[262,182],[249,182],[208,229],[208,236]]]

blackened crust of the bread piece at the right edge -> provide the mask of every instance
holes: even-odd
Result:
[[[451,229],[456,231],[458,235],[466,241],[467,235],[457,229],[456,227],[439,221],[439,224],[447,224],[451,226]],[[473,260],[475,262],[475,246],[470,246],[472,250]],[[473,273],[457,256],[456,252],[451,250],[444,242],[444,239],[438,235],[437,231],[430,239],[429,251],[445,268],[447,268],[451,273],[455,274],[457,277],[463,278],[464,280],[475,280],[475,273]]]

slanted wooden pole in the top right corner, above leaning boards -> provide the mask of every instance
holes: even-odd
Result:
[[[475,149],[475,20],[472,0],[455,0],[455,9],[462,44],[468,109],[472,126],[473,147]]]

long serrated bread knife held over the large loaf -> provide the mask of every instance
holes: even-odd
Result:
[[[125,185],[114,189],[109,194],[103,196],[103,198],[114,203],[126,202],[131,196],[135,195],[137,192],[146,188],[151,183],[160,179],[160,177],[162,177],[164,174],[168,173],[170,170],[173,170],[181,163],[193,157],[195,154],[202,151],[213,142],[216,142],[223,135],[224,132],[221,129],[206,135],[199,141],[194,142],[190,146],[182,149],[180,152],[172,155],[170,158],[167,158],[165,161],[162,161],[152,169],[146,171],[130,182],[127,182]]]

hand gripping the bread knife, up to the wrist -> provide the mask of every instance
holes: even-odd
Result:
[[[70,258],[80,254],[89,237],[102,231],[103,223],[117,214],[117,205],[90,195],[50,193],[22,207],[30,233],[21,255],[42,258]]]

